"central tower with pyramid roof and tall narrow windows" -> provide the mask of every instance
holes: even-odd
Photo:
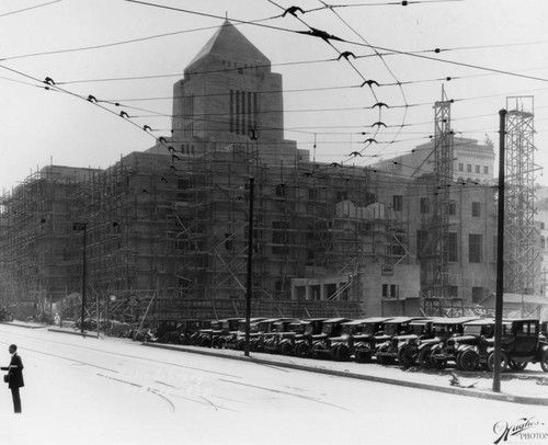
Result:
[[[193,157],[252,142],[263,161],[287,161],[283,111],[282,75],[226,21],[174,84],[172,145]]]

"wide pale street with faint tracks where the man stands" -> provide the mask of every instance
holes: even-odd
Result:
[[[499,422],[548,424],[548,407],[461,397],[277,366],[0,326],[19,345],[23,414],[0,397],[14,444],[491,444]],[[3,354],[3,355],[2,355]],[[529,429],[540,437],[548,426]],[[546,443],[509,436],[501,443]]]

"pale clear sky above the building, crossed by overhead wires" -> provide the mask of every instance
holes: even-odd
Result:
[[[535,115],[535,181],[547,185],[548,2],[401,3],[3,0],[0,187],[50,163],[107,168],[169,136],[173,83],[226,18],[283,75],[285,137],[312,159],[366,166],[409,153],[434,134],[442,91],[455,134],[498,151],[499,111],[521,96]]]

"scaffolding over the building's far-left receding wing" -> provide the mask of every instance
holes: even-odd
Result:
[[[67,283],[71,193],[92,172],[47,166],[0,197],[0,300],[14,316],[45,318],[73,290]]]

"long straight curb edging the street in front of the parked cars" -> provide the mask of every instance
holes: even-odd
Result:
[[[498,392],[483,392],[483,391],[478,391],[478,390],[473,390],[473,389],[465,389],[465,388],[443,387],[443,386],[436,386],[436,385],[430,385],[430,384],[421,384],[418,381],[399,380],[399,379],[389,378],[389,377],[378,377],[378,376],[369,376],[366,374],[356,374],[356,373],[350,373],[350,372],[343,372],[343,370],[336,370],[336,369],[318,368],[315,366],[299,365],[296,363],[284,363],[284,362],[277,362],[274,360],[267,360],[267,358],[255,358],[255,357],[247,357],[247,356],[241,356],[241,355],[230,355],[230,354],[224,354],[224,353],[209,351],[209,350],[202,351],[202,350],[195,350],[195,349],[190,349],[190,347],[185,347],[185,346],[176,346],[176,345],[170,345],[170,344],[159,344],[159,343],[141,343],[141,344],[144,346],[148,346],[148,347],[157,347],[157,349],[164,349],[164,350],[172,350],[172,351],[180,351],[180,352],[189,352],[189,353],[193,353],[193,354],[209,355],[209,356],[220,357],[220,358],[238,360],[238,361],[242,361],[242,362],[250,362],[250,363],[256,363],[256,364],[262,364],[262,365],[279,366],[279,367],[286,367],[286,368],[298,369],[298,370],[306,370],[306,372],[318,373],[318,374],[326,374],[326,375],[346,377],[346,378],[355,378],[355,379],[359,379],[359,380],[374,381],[374,383],[378,383],[378,384],[404,386],[404,387],[409,387],[409,388],[423,389],[423,390],[436,391],[436,392],[445,392],[445,393],[452,393],[452,395],[456,395],[456,396],[476,397],[479,399],[498,400],[498,401],[523,403],[523,404],[548,406],[548,399],[543,399],[543,398],[537,398],[537,397],[514,396],[514,395],[498,393]]]

